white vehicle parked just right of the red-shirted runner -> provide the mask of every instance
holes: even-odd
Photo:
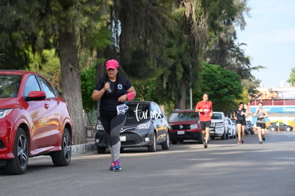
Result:
[[[229,139],[229,125],[225,119],[223,112],[213,112],[211,126],[210,126],[210,137],[220,137],[222,140]]]

